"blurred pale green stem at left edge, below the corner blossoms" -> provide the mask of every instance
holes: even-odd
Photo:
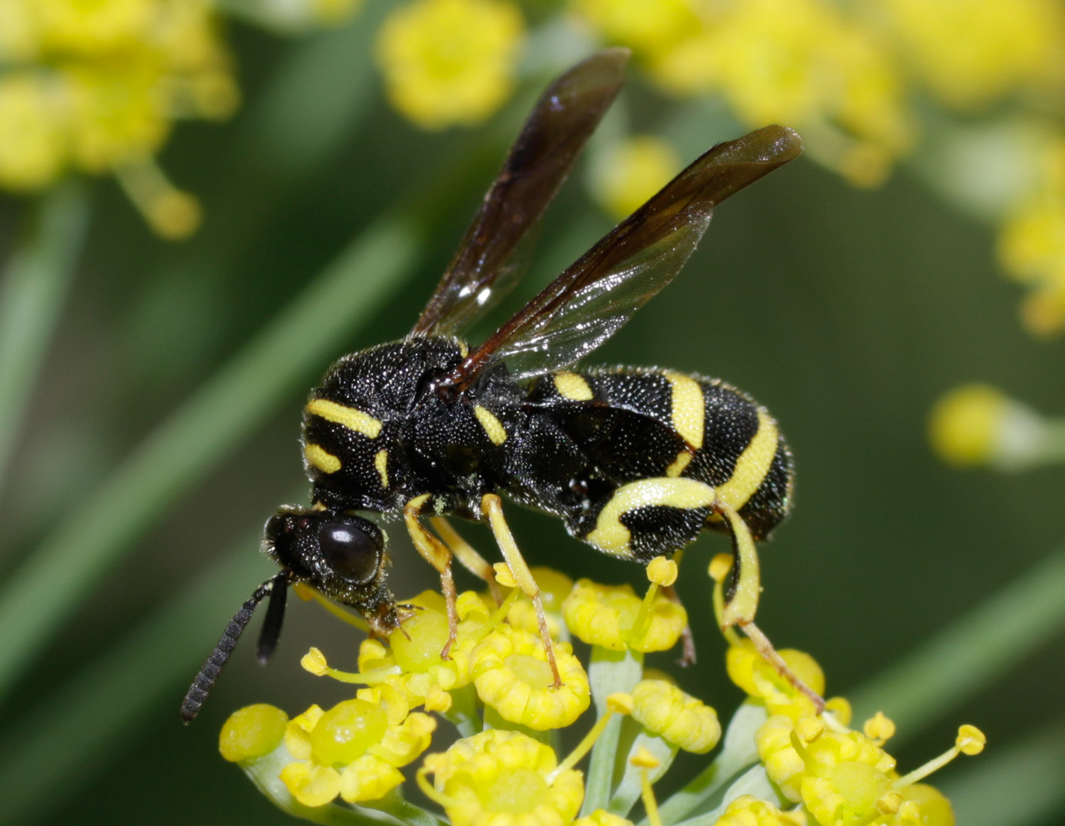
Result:
[[[77,268],[87,218],[80,182],[52,189],[0,280],[0,483]]]

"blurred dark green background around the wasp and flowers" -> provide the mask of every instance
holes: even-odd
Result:
[[[366,269],[349,272],[320,312],[313,327],[335,332],[295,364],[267,370],[280,378],[276,392],[256,398],[258,415],[227,431],[187,483],[158,493],[158,513],[125,531],[128,552],[101,565],[88,598],[72,601],[56,633],[29,651],[4,697],[0,822],[290,822],[218,757],[218,728],[249,703],[295,712],[339,699],[342,687],[297,661],[316,645],[339,667],[354,667],[358,635],[292,600],[267,668],[245,642],[193,726],[181,725],[178,706],[232,612],[272,572],[257,556],[262,523],[278,503],[305,501],[297,439],[308,389],[332,359],[407,332],[547,77],[534,72],[482,127],[419,131],[386,104],[370,63],[383,5],[372,2],[350,24],[298,40],[232,26],[244,109],[225,126],[182,126],[162,154],[169,175],[202,202],[204,224],[193,238],[155,238],[113,181],[82,182],[91,203],[84,249],[0,494],[7,582],[45,538],[58,535],[77,557],[81,510],[119,468],[141,461],[145,441],[314,290],[324,268],[351,254],[353,239],[386,243],[357,260]],[[671,104],[635,71],[623,105],[634,128],[666,135],[686,160],[746,131],[714,102]],[[586,175],[578,166],[546,219],[531,271],[492,323],[609,228],[586,195]],[[2,258],[35,209],[32,200],[0,200]],[[421,221],[415,243],[381,234],[395,229],[391,216],[411,213]],[[995,264],[989,229],[906,166],[867,192],[800,160],[723,206],[674,284],[589,360],[721,377],[781,422],[796,455],[796,509],[761,551],[759,625],[779,646],[810,651],[830,695],[851,696],[1063,546],[1060,468],[960,473],[927,443],[932,403],[961,381],[987,381],[1037,409],[1065,411],[1065,344],[1028,335],[1017,300]],[[256,379],[252,390],[265,383]],[[151,461],[191,461],[210,443],[212,423],[231,411],[228,401],[211,403],[178,455]],[[509,516],[535,563],[607,582],[642,578],[556,522],[513,507]],[[54,533],[60,527],[65,532]],[[492,555],[485,528],[459,527]],[[432,588],[403,531],[391,538],[393,590]],[[679,591],[700,661],[678,679],[727,715],[741,697],[724,675],[705,575],[724,549],[706,535],[688,554]],[[1026,651],[1019,662],[987,684],[955,687],[961,699],[945,708],[924,713],[921,700],[896,712],[883,700],[897,713],[892,753],[904,771],[947,747],[960,723],[987,733],[984,756],[933,781],[957,790],[963,824],[987,816],[981,790],[995,788],[994,799],[1006,805],[1023,783],[1034,797],[1010,822],[1049,824],[1065,814],[1065,749],[1054,745],[1065,726],[1065,638],[1050,620],[1033,633],[1011,644]],[[669,664],[672,655],[657,659]],[[1006,758],[1009,765],[992,762]],[[979,761],[994,770],[989,777],[974,774]],[[684,775],[674,770],[670,778]]]

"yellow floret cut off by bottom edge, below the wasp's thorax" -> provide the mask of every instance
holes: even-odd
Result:
[[[453,826],[563,826],[585,790],[580,772],[556,773],[557,765],[555,753],[527,734],[489,729],[426,757],[419,779]]]

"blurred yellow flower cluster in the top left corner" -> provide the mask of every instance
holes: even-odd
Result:
[[[216,26],[207,0],[3,0],[0,186],[113,171],[158,232],[194,230],[195,200],[152,158],[175,118],[236,106]]]

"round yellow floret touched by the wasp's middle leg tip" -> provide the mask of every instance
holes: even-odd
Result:
[[[504,720],[536,731],[573,723],[591,703],[588,675],[568,643],[555,643],[555,678],[539,634],[499,626],[470,656],[477,696]]]

